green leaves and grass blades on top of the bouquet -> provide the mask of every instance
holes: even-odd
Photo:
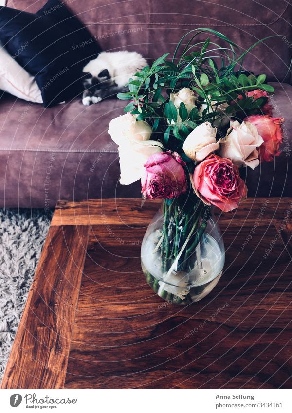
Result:
[[[205,40],[197,41],[197,36],[204,34],[208,34]],[[225,42],[224,47],[216,43],[218,38]],[[207,28],[192,30],[183,36],[171,61],[167,60],[169,53],[159,57],[151,67],[135,73],[129,79],[129,91],[117,96],[131,101],[125,112],[138,115],[137,120],[146,120],[153,128],[154,139],[183,155],[185,138],[202,122],[213,124],[226,116],[243,119],[259,112],[267,102],[265,97],[247,97],[247,92],[256,89],[274,91],[266,83],[266,76],[238,71],[244,56],[261,41],[237,55],[237,46],[223,34]],[[183,87],[197,96],[196,107],[191,110],[183,102],[177,108],[171,100],[171,94]],[[224,105],[225,113],[218,109],[219,105]]]

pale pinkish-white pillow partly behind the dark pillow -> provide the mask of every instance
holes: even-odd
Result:
[[[20,99],[43,103],[34,77],[0,45],[0,89]]]

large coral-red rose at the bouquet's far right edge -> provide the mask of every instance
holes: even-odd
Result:
[[[284,118],[270,118],[268,115],[253,115],[245,120],[256,126],[264,143],[259,147],[259,158],[261,162],[273,161],[275,156],[280,155],[280,144],[283,142],[282,125]]]

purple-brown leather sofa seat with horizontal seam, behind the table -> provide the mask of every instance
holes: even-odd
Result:
[[[274,116],[283,116],[282,154],[242,169],[249,196],[291,196],[292,86],[274,84]],[[140,197],[140,182],[120,185],[117,146],[107,133],[125,101],[85,107],[80,99],[44,109],[6,95],[0,103],[0,206],[55,206],[57,199]]]

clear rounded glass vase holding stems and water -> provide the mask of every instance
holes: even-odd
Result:
[[[198,199],[163,200],[141,246],[149,286],[173,304],[205,297],[218,283],[225,250],[213,208]]]

